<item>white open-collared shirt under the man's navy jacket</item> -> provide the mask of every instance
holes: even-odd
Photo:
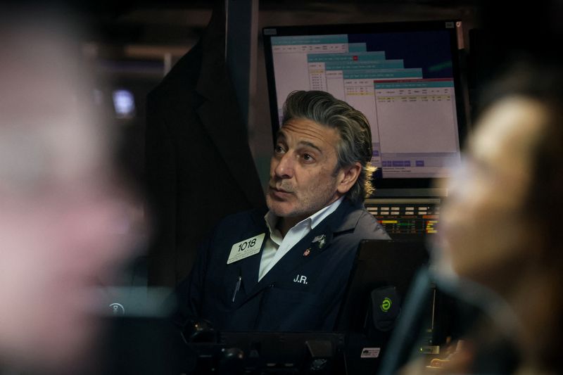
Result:
[[[301,222],[298,222],[289,229],[285,237],[281,236],[281,232],[276,228],[279,217],[274,215],[274,212],[268,211],[264,216],[264,220],[266,220],[266,225],[270,230],[270,236],[267,237],[264,249],[262,250],[258,281],[260,281],[262,277],[296,245],[296,243],[307,236],[313,228],[317,227],[317,224],[334,212],[336,208],[339,208],[343,199],[344,197],[341,197],[337,201],[327,205],[327,207],[321,208],[307,219],[301,220]]]

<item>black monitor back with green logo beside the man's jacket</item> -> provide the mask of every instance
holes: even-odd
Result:
[[[375,373],[403,315],[412,280],[428,259],[422,239],[360,243],[336,324],[338,331],[348,333],[350,374]],[[430,302],[428,305],[431,308]]]

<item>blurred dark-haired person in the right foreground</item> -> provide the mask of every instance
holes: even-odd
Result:
[[[442,207],[438,269],[460,291],[484,286],[491,317],[442,363],[448,374],[563,372],[562,71],[508,76],[488,91]]]

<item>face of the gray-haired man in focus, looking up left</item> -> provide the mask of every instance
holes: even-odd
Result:
[[[268,208],[279,217],[296,221],[326,207],[343,193],[336,172],[336,129],[302,118],[291,119],[279,130],[270,163]]]

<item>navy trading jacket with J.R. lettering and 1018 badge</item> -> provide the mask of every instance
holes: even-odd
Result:
[[[177,288],[177,324],[199,318],[223,331],[331,331],[360,241],[389,239],[361,203],[344,199],[258,282],[264,215],[241,212],[217,225]],[[236,260],[237,253],[247,256]]]

